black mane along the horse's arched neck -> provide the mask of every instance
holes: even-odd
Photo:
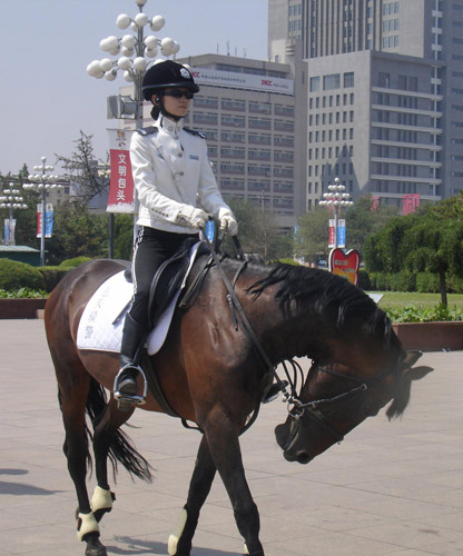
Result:
[[[338,330],[352,320],[362,321],[372,337],[382,334],[384,347],[396,347],[390,318],[373,299],[345,278],[317,268],[277,264],[247,291],[258,298],[275,285],[279,285],[275,299],[284,314],[290,315],[294,308],[318,315],[334,312]]]

